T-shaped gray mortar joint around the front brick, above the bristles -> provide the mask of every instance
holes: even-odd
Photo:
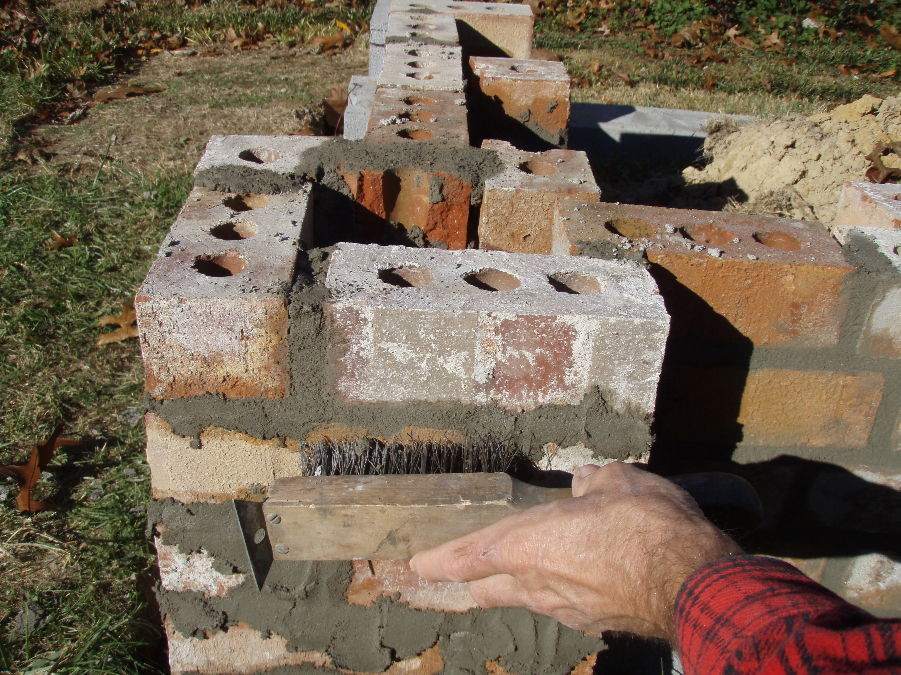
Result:
[[[328,363],[329,329],[323,318],[325,273],[331,249],[301,251],[298,275],[289,296],[288,346],[291,391],[282,400],[226,399],[205,394],[157,401],[145,394],[151,412],[165,419],[179,436],[198,438],[210,426],[256,438],[305,441],[327,424],[362,427],[374,437],[390,438],[407,427],[455,429],[470,440],[509,437],[524,452],[540,455],[546,443],[585,443],[599,457],[625,459],[651,446],[649,415],[618,414],[605,392],[588,392],[579,405],[545,405],[511,413],[495,406],[453,402],[346,403],[331,385],[336,372]]]

